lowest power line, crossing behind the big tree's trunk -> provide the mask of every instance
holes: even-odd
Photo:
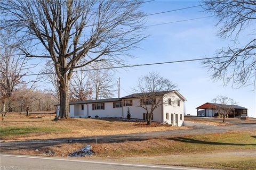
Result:
[[[243,56],[243,55],[237,55],[237,56]],[[209,58],[195,58],[195,59],[191,59],[191,60],[178,60],[178,61],[160,62],[160,63],[147,63],[147,64],[123,65],[123,66],[105,67],[105,68],[99,68],[99,69],[74,70],[73,72],[93,71],[93,70],[108,70],[108,69],[120,69],[120,68],[127,68],[127,67],[148,66],[148,65],[158,65],[158,64],[184,63],[184,62],[202,61],[202,60],[210,60],[210,59],[218,59],[218,58],[227,58],[227,57],[233,57],[233,56],[209,57]],[[34,73],[34,74],[26,74],[26,75],[23,75],[23,76],[25,77],[25,76],[32,76],[32,75],[47,75],[47,74],[56,74],[56,72]],[[8,76],[8,77],[15,77],[15,76]],[[4,78],[4,77],[0,77],[0,78]]]

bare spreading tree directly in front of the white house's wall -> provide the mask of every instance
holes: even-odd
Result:
[[[140,99],[139,107],[146,110],[147,124],[151,123],[153,112],[157,107],[170,102],[168,99],[164,99],[166,92],[174,90],[176,87],[169,79],[161,77],[156,72],[139,78],[137,88],[134,88],[133,91],[137,93],[135,96]]]

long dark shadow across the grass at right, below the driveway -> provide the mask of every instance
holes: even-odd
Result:
[[[255,137],[253,137],[255,138]],[[179,141],[179,142],[186,142],[186,143],[198,143],[198,144],[205,144],[205,145],[228,145],[228,146],[256,146],[255,143],[252,144],[243,144],[243,143],[225,143],[225,142],[211,142],[211,141],[202,141],[196,140],[191,138],[169,138],[169,140]]]

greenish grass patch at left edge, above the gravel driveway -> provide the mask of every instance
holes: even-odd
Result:
[[[43,127],[43,128],[35,128],[35,127],[24,127],[24,128],[17,128],[17,127],[2,127],[0,128],[0,136],[2,137],[9,137],[15,135],[22,135],[22,134],[30,134],[30,133],[51,133],[51,132],[62,132],[64,129],[54,128],[54,127]]]

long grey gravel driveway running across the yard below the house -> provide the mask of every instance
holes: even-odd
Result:
[[[197,126],[197,127],[194,127],[193,129],[98,136],[97,142],[98,143],[114,143],[114,142],[123,142],[123,141],[142,141],[150,138],[159,138],[159,137],[174,138],[174,137],[183,137],[186,135],[223,133],[228,131],[253,130],[253,129],[256,129],[256,123],[238,123],[230,126]],[[1,148],[1,152],[3,152],[6,149],[40,148],[44,146],[57,145],[60,143],[67,143],[68,140],[69,140],[68,138],[62,138],[62,139],[50,139],[50,140],[0,142],[0,148]],[[72,138],[72,140],[73,142],[77,142],[77,143],[90,144],[95,142],[95,137]]]

